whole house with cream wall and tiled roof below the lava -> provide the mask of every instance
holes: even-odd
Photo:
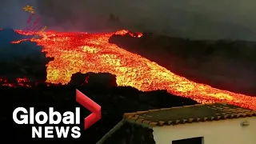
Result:
[[[256,111],[212,103],[128,113],[97,144],[256,144]]]

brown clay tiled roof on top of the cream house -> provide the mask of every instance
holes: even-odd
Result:
[[[177,125],[191,122],[218,121],[256,116],[256,111],[226,103],[198,104],[159,110],[138,111],[123,115],[125,120],[150,126]]]

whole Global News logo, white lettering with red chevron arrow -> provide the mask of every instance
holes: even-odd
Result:
[[[92,114],[84,119],[84,128],[86,130],[101,118],[101,106],[86,97],[86,95],[82,94],[79,90],[76,90],[76,101],[92,112]],[[18,114],[20,115],[18,116]],[[79,138],[81,136],[81,129],[78,126],[58,126],[58,124],[80,124],[79,107],[75,108],[75,112],[66,111],[63,114],[54,111],[54,107],[49,108],[48,114],[44,111],[39,111],[34,114],[34,107],[30,107],[29,110],[26,110],[24,107],[18,107],[13,112],[13,119],[15,123],[20,125],[55,125],[32,126],[32,138],[54,138],[54,134],[57,135],[58,138],[67,138],[70,133],[72,138]]]

